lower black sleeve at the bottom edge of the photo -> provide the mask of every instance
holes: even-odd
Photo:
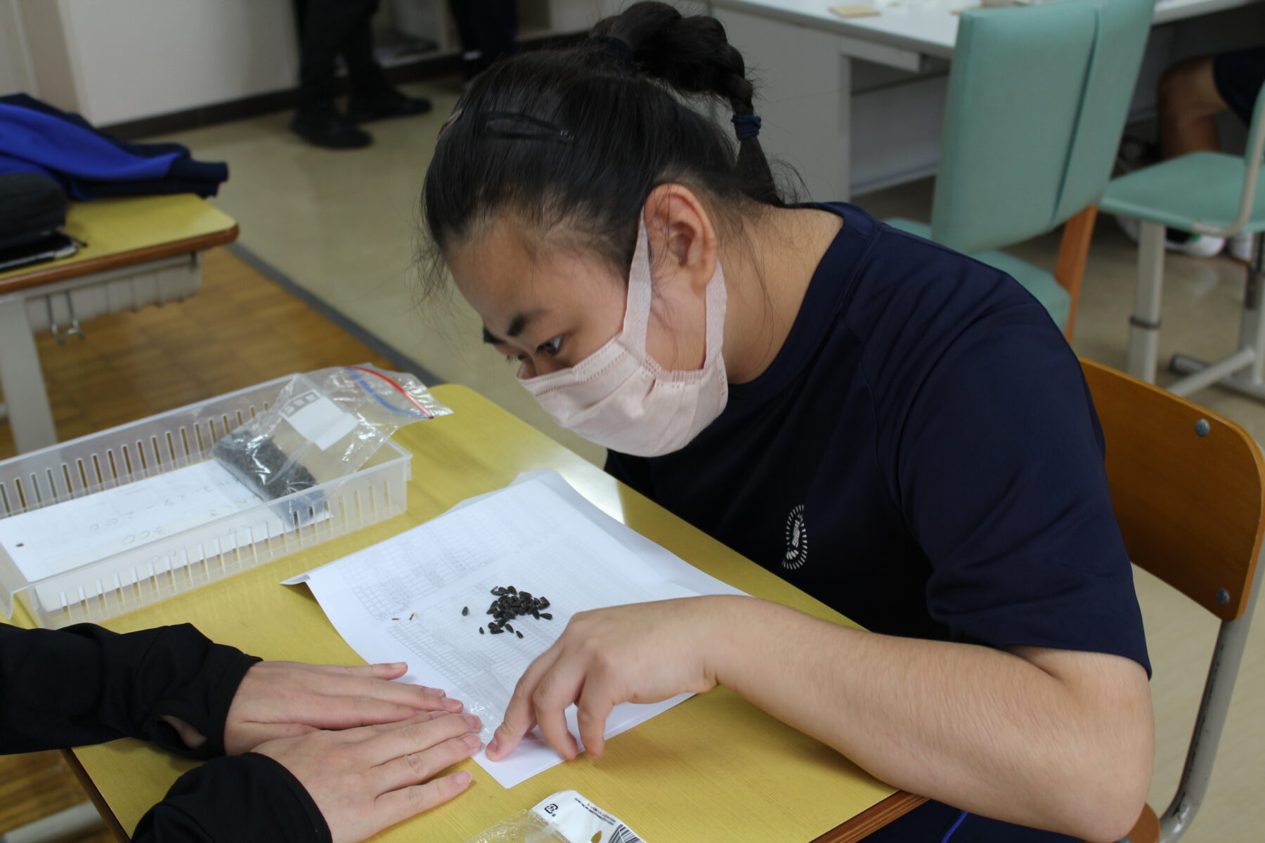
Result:
[[[207,761],[177,779],[140,818],[132,840],[329,843],[330,834],[299,780],[272,758],[248,752]]]

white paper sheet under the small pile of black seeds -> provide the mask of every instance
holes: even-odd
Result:
[[[741,591],[610,518],[553,471],[524,475],[393,538],[288,584],[306,581],[339,634],[369,662],[407,661],[401,681],[444,688],[483,719],[491,738],[531,661],[588,609]],[[497,585],[546,597],[553,621],[521,618],[517,636],[479,634]],[[462,608],[469,607],[469,616]],[[616,707],[619,734],[687,699]],[[574,708],[568,724],[578,738]],[[505,787],[562,758],[533,733],[505,761],[478,763]]]

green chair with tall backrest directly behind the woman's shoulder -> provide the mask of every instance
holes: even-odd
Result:
[[[931,224],[888,220],[1013,276],[1070,339],[1154,0],[961,14]],[[1066,222],[1054,272],[997,249]]]

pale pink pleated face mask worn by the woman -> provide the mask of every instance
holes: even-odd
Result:
[[[629,272],[624,330],[569,369],[519,379],[559,425],[632,456],[681,450],[729,401],[721,356],[726,297],[720,263],[707,282],[707,356],[696,372],[668,372],[646,354],[650,287],[650,248],[643,222]]]

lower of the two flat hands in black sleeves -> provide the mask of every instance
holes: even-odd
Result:
[[[400,723],[311,732],[254,748],[311,795],[334,843],[358,843],[463,792],[471,773],[433,779],[479,748],[473,714],[433,712]]]

